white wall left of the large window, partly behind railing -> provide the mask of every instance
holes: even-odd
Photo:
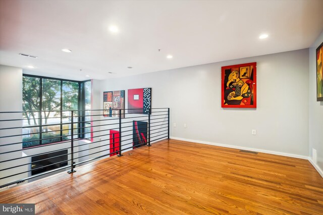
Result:
[[[0,112],[8,111],[22,111],[22,68],[0,65]],[[0,113],[0,119],[21,119],[22,113]],[[21,127],[22,121],[0,121],[0,128],[8,127]],[[0,130],[0,136],[8,136],[22,134],[21,128],[16,129],[4,129]],[[5,137],[0,138],[0,145],[12,144],[14,142],[21,142],[22,136]],[[0,147],[0,152],[9,152],[15,150],[21,150],[22,144],[10,145]],[[0,161],[6,161],[12,158],[21,158],[21,152],[13,152],[0,155]],[[20,164],[27,163],[28,159],[22,158],[20,160],[0,163],[0,169],[14,167]],[[28,165],[13,168],[11,170],[0,171],[0,178],[7,175],[14,175],[19,172],[28,170]],[[19,174],[11,178],[0,180],[0,184],[6,184],[21,178],[27,177],[27,173]]]

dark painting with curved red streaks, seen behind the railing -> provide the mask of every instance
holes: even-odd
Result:
[[[133,149],[147,145],[148,123],[144,121],[133,121],[132,146]]]

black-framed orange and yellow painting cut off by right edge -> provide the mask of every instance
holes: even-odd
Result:
[[[316,101],[323,101],[323,42],[316,49]]]

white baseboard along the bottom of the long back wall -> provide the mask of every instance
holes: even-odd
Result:
[[[188,141],[188,142],[196,142],[197,144],[206,144],[206,145],[217,146],[217,147],[227,147],[227,148],[238,149],[238,150],[255,151],[255,152],[267,153],[267,154],[272,154],[272,155],[280,155],[280,156],[286,156],[286,157],[291,157],[291,158],[299,158],[299,159],[308,160],[308,157],[304,156],[304,155],[294,155],[294,154],[288,154],[288,153],[283,153],[283,152],[275,152],[275,151],[270,151],[270,150],[260,150],[260,149],[253,149],[253,148],[248,148],[248,147],[240,147],[240,146],[232,146],[232,145],[226,145],[226,144],[218,144],[216,142],[206,142],[206,141],[200,141],[200,140],[194,140],[194,139],[185,139],[185,138],[179,138],[179,137],[175,137],[175,136],[171,136],[170,138],[171,139]]]

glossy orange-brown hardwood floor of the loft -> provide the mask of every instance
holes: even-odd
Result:
[[[0,192],[40,214],[323,214],[307,160],[179,140]]]

